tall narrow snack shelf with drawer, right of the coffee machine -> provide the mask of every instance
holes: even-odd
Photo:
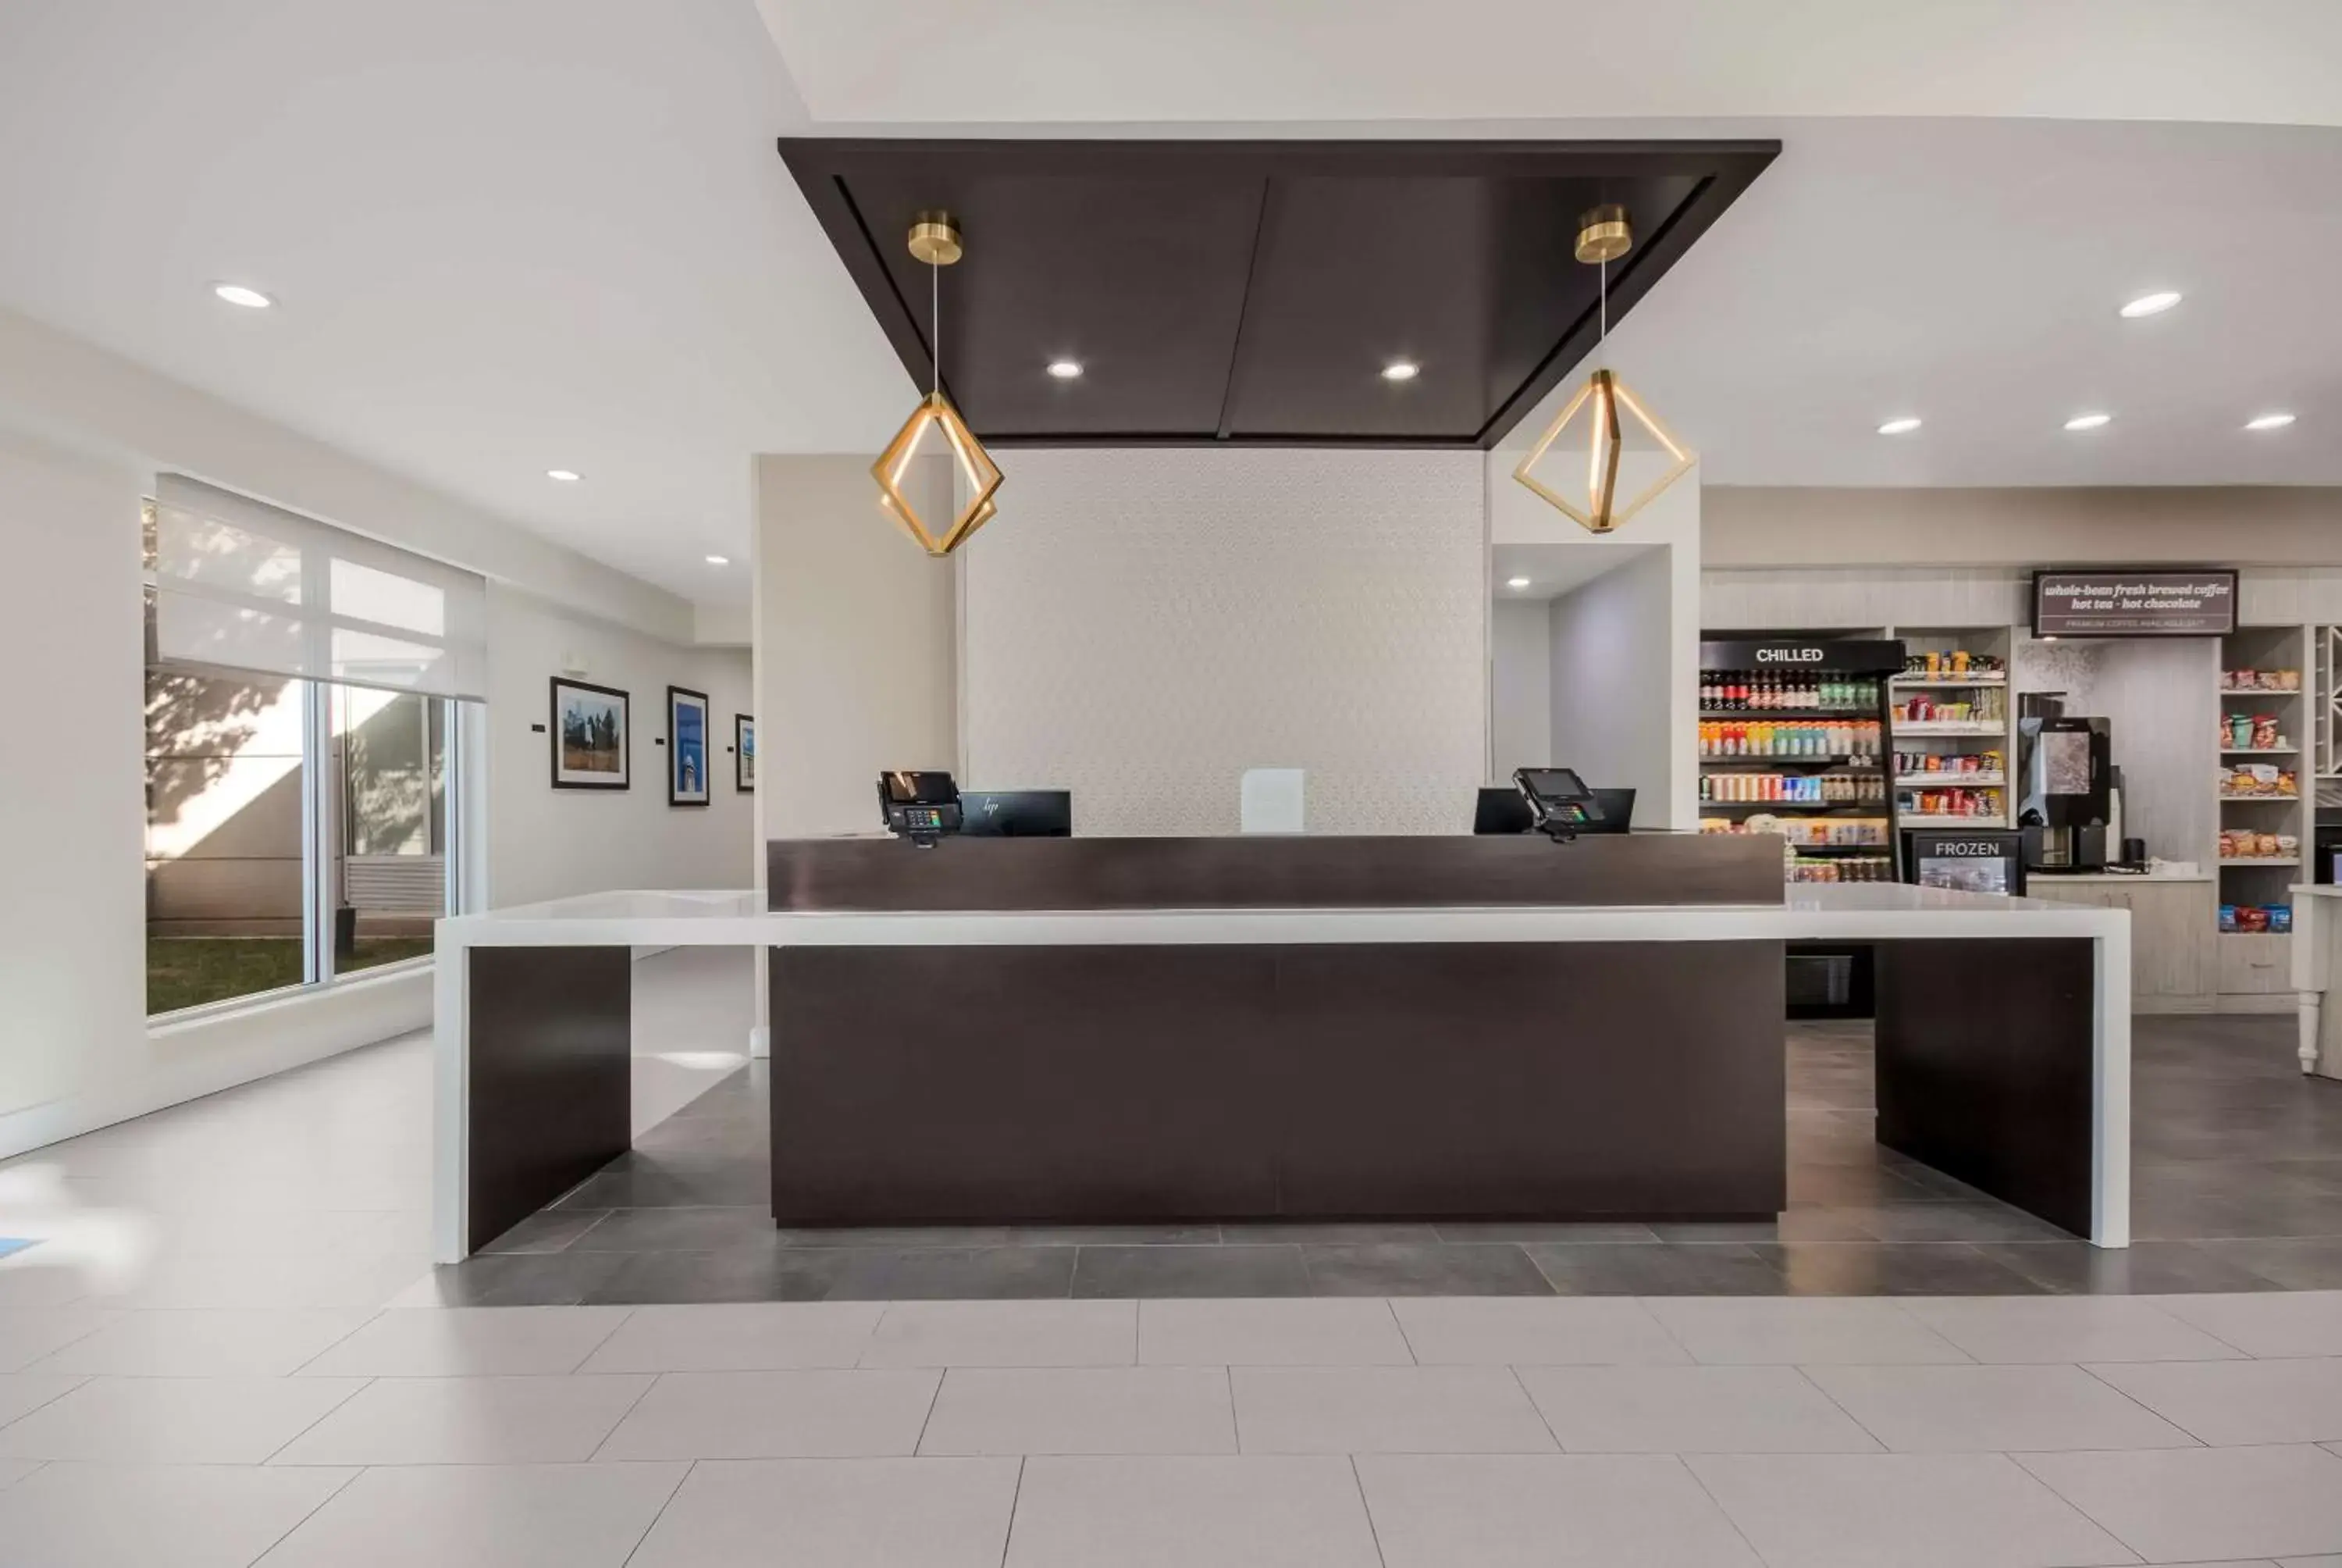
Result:
[[[2220,905],[2246,912],[2283,909],[2290,921],[2295,881],[2307,881],[2314,841],[2312,769],[2319,750],[2319,703],[2328,701],[2314,673],[2326,654],[2307,626],[2248,626],[2220,640]],[[2244,734],[2237,731],[2244,720]],[[2274,727],[2276,736],[2269,736]],[[2255,734],[2258,731],[2258,734]],[[2239,741],[2244,741],[2239,745]],[[2272,741],[2262,745],[2260,741]],[[2328,729],[2330,743],[2330,729]],[[2251,834],[2255,848],[2239,851],[2230,834]],[[2218,989],[2223,1010],[2290,1005],[2290,938],[2286,930],[2220,930]]]

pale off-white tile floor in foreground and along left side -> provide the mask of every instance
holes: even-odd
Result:
[[[152,1252],[0,1263],[0,1568],[2342,1568],[2342,1291],[393,1308],[424,1118],[30,1160]]]

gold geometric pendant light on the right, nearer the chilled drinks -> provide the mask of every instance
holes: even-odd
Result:
[[[1602,267],[1602,338],[1595,342],[1595,359],[1602,359],[1602,342],[1609,340],[1609,263],[1635,246],[1623,206],[1597,206],[1579,220],[1579,260]],[[1583,420],[1581,420],[1583,415]],[[1632,431],[1628,422],[1632,420]],[[1569,448],[1586,443],[1586,485],[1579,490],[1576,476],[1546,483],[1536,476],[1539,464],[1571,434]],[[1614,370],[1597,368],[1579,387],[1576,396],[1562,403],[1546,434],[1536,438],[1529,455],[1513,469],[1513,478],[1534,490],[1555,511],[1579,527],[1607,534],[1651,499],[1684,478],[1698,455],[1675,438],[1658,415],[1653,415]],[[1639,485],[1639,488],[1637,488]],[[1632,497],[1621,504],[1621,492]]]

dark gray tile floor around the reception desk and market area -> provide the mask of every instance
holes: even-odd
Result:
[[[2342,1287],[2342,1083],[2283,1017],[2136,1022],[2136,1245],[2101,1252],[1871,1139],[1867,1024],[1789,1041],[1789,1209],[1764,1226],[775,1230],[742,1069],[440,1270],[447,1305],[1098,1296],[2016,1296]]]

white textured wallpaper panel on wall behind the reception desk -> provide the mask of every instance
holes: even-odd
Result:
[[[1084,834],[1237,832],[1248,766],[1312,832],[1464,832],[1485,764],[1478,452],[1007,452],[965,551],[970,788]]]

